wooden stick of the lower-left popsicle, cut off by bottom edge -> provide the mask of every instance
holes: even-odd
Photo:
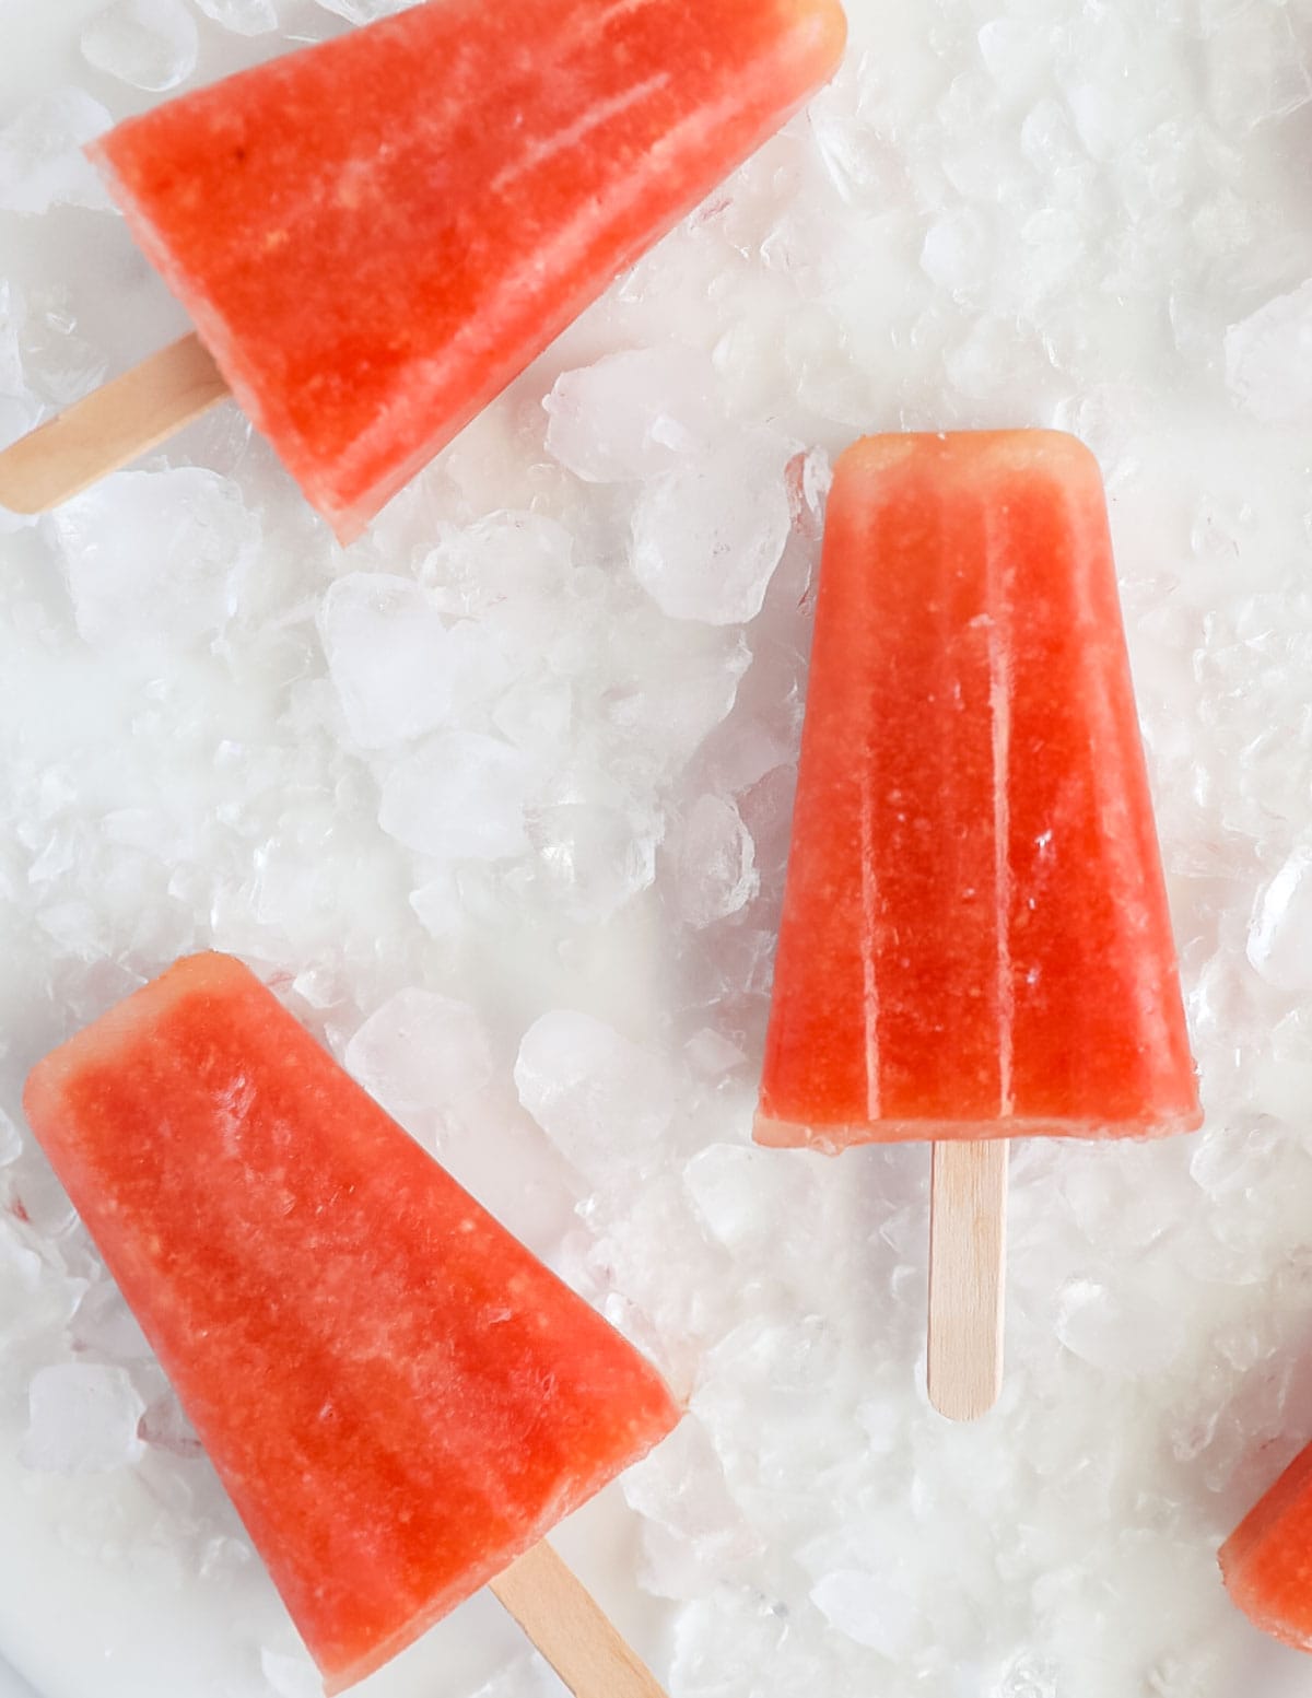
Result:
[[[524,1552],[491,1583],[491,1591],[575,1698],[665,1698],[652,1671],[548,1543]]]

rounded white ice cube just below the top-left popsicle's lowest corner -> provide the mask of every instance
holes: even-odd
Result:
[[[433,596],[409,577],[348,572],[319,632],[351,737],[365,749],[435,730],[451,706],[451,647]]]

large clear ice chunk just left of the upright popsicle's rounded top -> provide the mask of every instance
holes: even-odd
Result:
[[[745,430],[643,489],[633,571],[664,613],[706,625],[760,613],[793,528],[784,469],[794,452],[774,431]]]

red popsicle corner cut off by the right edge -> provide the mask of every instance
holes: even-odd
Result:
[[[1312,1650],[1312,1445],[1249,1510],[1219,1560],[1231,1598],[1256,1627]]]

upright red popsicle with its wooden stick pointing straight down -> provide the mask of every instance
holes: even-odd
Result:
[[[935,1141],[930,1396],[979,1413],[1000,1139],[1198,1119],[1096,462],[1054,431],[859,441],[825,530],[757,1139]]]

